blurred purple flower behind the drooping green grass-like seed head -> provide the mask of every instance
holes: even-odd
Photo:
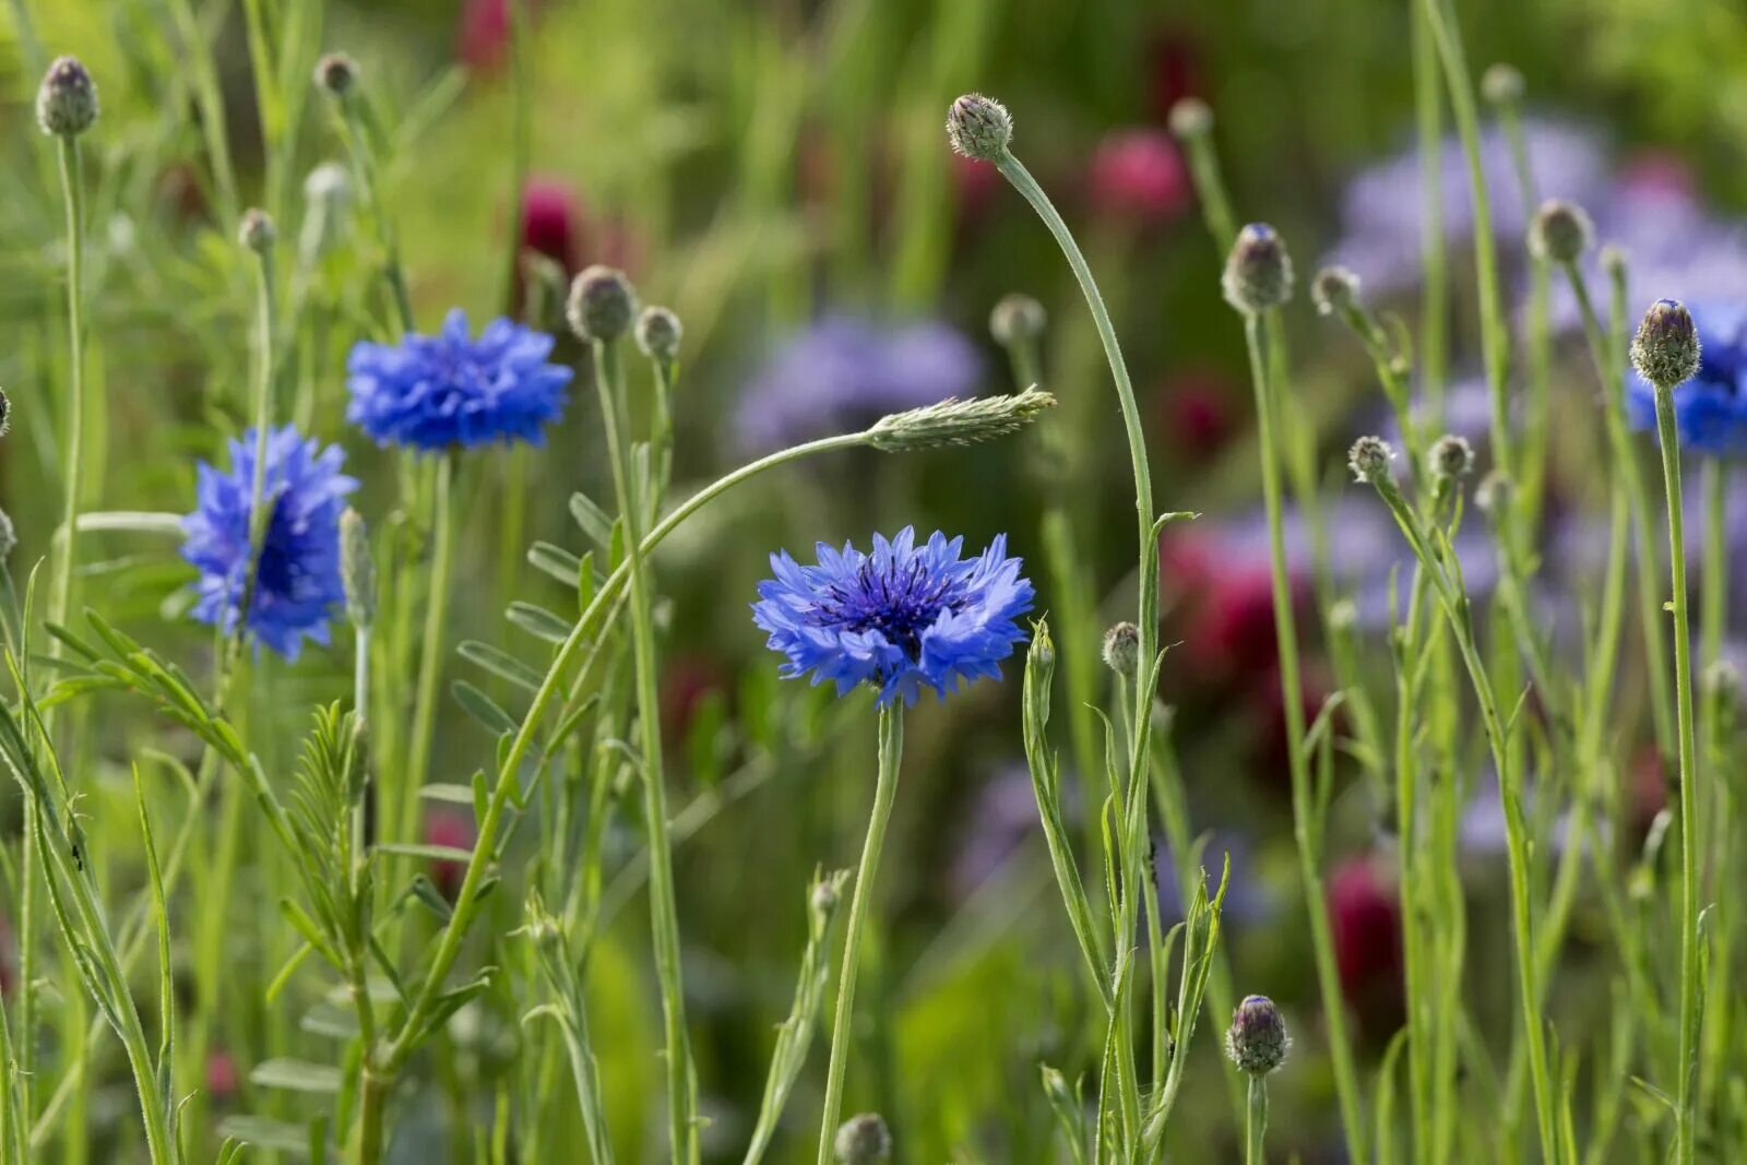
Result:
[[[877,327],[828,316],[790,341],[746,386],[735,431],[749,452],[872,424],[887,412],[970,396],[982,356],[938,320]]]

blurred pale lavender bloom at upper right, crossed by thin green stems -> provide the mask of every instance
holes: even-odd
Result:
[[[1525,121],[1523,138],[1539,197],[1585,203],[1590,213],[1600,218],[1602,208],[1593,204],[1597,190],[1602,190],[1607,180],[1600,138],[1588,129],[1543,117]],[[1494,236],[1506,253],[1522,250],[1532,208],[1523,206],[1509,141],[1497,126],[1481,134],[1480,154]],[[1471,239],[1474,208],[1467,159],[1455,134],[1441,143],[1438,166],[1445,238],[1452,243]],[[1329,252],[1328,262],[1356,271],[1368,290],[1405,292],[1420,279],[1422,224],[1420,157],[1417,148],[1408,148],[1359,171],[1347,183],[1340,204],[1342,239]]]

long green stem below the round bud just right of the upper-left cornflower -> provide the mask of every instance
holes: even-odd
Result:
[[[601,398],[608,459],[618,514],[625,526],[625,566],[631,571],[631,651],[636,671],[638,728],[643,769],[643,828],[650,854],[650,929],[655,947],[655,978],[660,982],[662,1029],[667,1065],[667,1135],[674,1162],[695,1162],[697,1079],[685,1031],[685,987],[680,973],[680,908],[673,887],[673,842],[667,835],[667,788],[662,767],[660,693],[655,674],[653,589],[641,550],[646,479],[632,477],[625,447],[625,374],[617,341],[594,341],[594,386]]]

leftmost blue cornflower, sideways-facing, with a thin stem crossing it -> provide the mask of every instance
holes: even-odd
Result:
[[[182,557],[199,568],[194,618],[236,629],[248,573],[248,519],[255,486],[255,430],[231,440],[231,470],[199,463],[196,510],[182,519]],[[323,449],[287,424],[267,435],[264,503],[273,507],[248,631],[288,660],[304,639],[325,645],[328,618],[344,603],[339,573],[342,498],[358,482],[339,472],[346,452]]]

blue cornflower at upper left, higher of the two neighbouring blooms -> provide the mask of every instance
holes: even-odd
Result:
[[[538,445],[542,428],[564,410],[571,377],[564,365],[547,362],[552,342],[505,318],[487,323],[475,341],[459,307],[437,335],[409,334],[398,344],[358,341],[346,362],[346,419],[377,445]]]

